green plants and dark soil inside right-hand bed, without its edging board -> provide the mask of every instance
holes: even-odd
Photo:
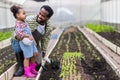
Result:
[[[86,24],[86,27],[120,47],[120,33],[116,32],[116,29],[113,26]]]

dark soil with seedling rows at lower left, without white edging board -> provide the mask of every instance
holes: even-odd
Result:
[[[15,62],[15,54],[11,46],[0,50],[0,74],[9,69]]]

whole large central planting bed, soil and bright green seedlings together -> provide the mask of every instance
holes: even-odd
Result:
[[[40,80],[119,80],[77,28],[67,29],[50,55]]]

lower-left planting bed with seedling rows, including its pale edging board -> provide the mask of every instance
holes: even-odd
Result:
[[[15,71],[16,59],[11,46],[0,50],[0,80],[10,80]]]

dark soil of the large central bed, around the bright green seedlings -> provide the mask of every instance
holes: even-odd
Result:
[[[76,71],[81,75],[80,79],[64,80],[120,80],[112,68],[106,63],[100,53],[88,42],[77,28],[70,27],[61,36],[50,58],[56,61],[58,66],[46,64],[47,71],[43,70],[39,80],[61,80],[61,60],[65,52],[80,52],[84,59],[77,60]]]

